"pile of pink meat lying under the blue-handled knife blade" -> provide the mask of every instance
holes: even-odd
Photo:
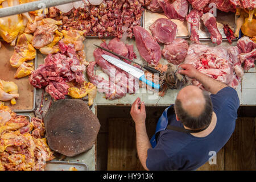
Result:
[[[117,38],[110,40],[108,45],[106,43],[102,43],[101,47],[110,49],[111,51],[125,56],[131,60],[135,57],[133,46],[125,45]],[[86,73],[90,82],[97,86],[98,92],[105,93],[106,99],[108,100],[119,99],[125,96],[126,93],[137,92],[139,89],[138,79],[103,59],[101,57],[103,54],[110,55],[119,59],[117,56],[114,56],[100,48],[97,48],[93,52],[95,61],[90,62],[86,68]],[[99,65],[102,71],[109,76],[108,81],[94,74],[94,65],[96,64]]]

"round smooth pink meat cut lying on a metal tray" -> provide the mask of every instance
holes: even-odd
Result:
[[[150,26],[150,31],[157,42],[170,44],[177,33],[177,25],[170,19],[159,18]]]

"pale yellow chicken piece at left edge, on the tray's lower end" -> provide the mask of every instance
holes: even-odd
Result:
[[[12,81],[0,80],[0,101],[9,101],[11,104],[16,104],[15,98],[18,98],[18,85]]]

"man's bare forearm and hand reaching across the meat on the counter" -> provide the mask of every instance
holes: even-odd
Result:
[[[214,80],[213,78],[210,78],[209,76],[200,73],[195,67],[193,67],[192,64],[181,64],[180,67],[183,68],[183,70],[181,69],[179,71],[180,74],[186,75],[189,78],[196,79],[201,84],[203,84],[206,90],[208,90],[212,94],[216,94],[218,93],[218,91],[228,86],[223,82]]]

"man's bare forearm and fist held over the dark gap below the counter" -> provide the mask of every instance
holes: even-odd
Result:
[[[141,106],[141,109],[139,109]],[[136,129],[136,141],[137,141],[137,151],[139,160],[141,161],[142,166],[144,169],[148,170],[146,166],[147,160],[147,150],[152,148],[150,140],[147,136],[146,131],[146,109],[144,102],[141,103],[141,99],[138,97],[136,101],[134,101],[133,105],[131,106],[131,117],[135,122],[135,129]]]

